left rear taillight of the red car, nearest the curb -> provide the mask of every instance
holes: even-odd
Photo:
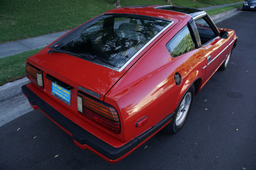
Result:
[[[26,77],[28,77],[31,82],[35,83],[40,88],[44,88],[43,71],[29,64],[28,62],[26,63]]]

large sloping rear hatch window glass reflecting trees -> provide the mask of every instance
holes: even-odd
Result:
[[[105,14],[80,26],[50,48],[70,52],[70,55],[90,54],[121,68],[170,22],[135,15]]]

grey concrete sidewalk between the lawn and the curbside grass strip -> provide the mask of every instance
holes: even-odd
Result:
[[[243,2],[244,1],[241,1],[238,3],[224,4],[224,5],[219,5],[219,6],[208,6],[208,7],[204,7],[204,8],[198,8],[198,9],[206,11],[209,9],[231,6],[231,5],[235,5],[235,4],[239,4],[239,3],[243,3]],[[212,19],[212,20],[216,23],[216,21],[214,19]],[[0,58],[19,54],[24,51],[35,50],[37,48],[46,47],[47,45],[49,45],[49,43],[53,42],[54,40],[58,39],[62,35],[66,34],[68,31],[62,31],[62,32],[58,32],[58,33],[42,35],[39,37],[28,38],[25,40],[18,40],[18,41],[0,44]]]

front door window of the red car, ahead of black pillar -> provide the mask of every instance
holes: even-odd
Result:
[[[195,20],[195,25],[198,29],[198,34],[202,45],[206,44],[208,41],[217,36],[204,18]]]

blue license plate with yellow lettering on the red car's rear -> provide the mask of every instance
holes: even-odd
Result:
[[[70,105],[71,90],[67,90],[54,82],[52,82],[52,93],[53,96],[60,99],[62,102]]]

